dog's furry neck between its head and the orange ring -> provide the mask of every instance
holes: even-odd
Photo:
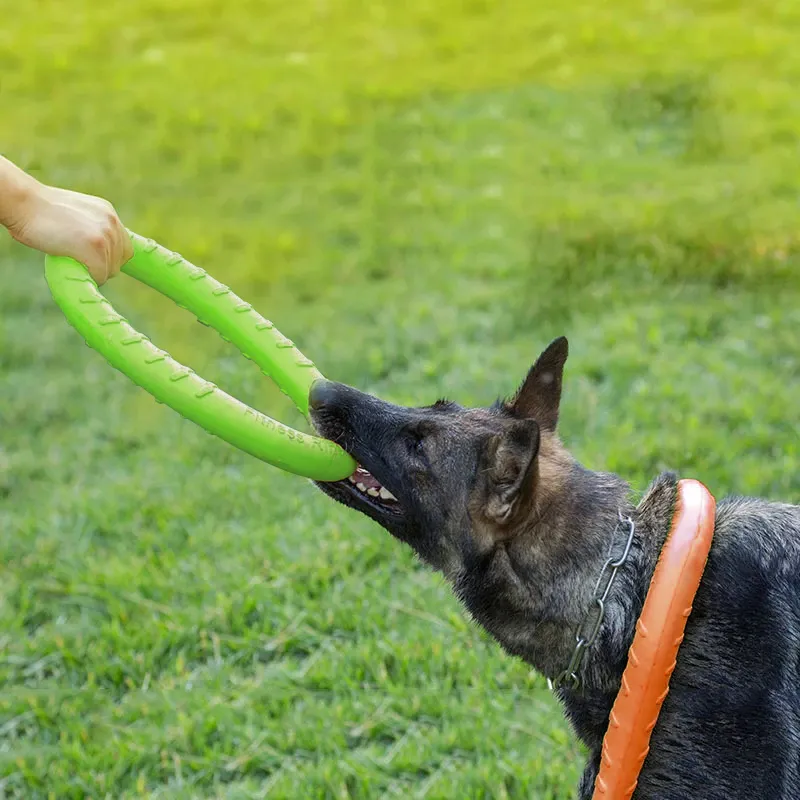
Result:
[[[580,738],[599,747],[644,602],[642,587],[672,519],[677,477],[662,475],[634,505],[618,476],[584,468],[555,437],[543,445],[536,488],[515,529],[490,558],[467,568],[455,588],[507,651],[555,679],[569,664],[603,565],[625,547],[620,514],[634,520],[630,553],[581,666],[580,691],[558,692]]]

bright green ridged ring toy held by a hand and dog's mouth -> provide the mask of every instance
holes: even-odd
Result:
[[[275,326],[177,253],[131,233],[127,275],[166,295],[254,361],[308,417],[308,393],[322,375]],[[155,399],[209,433],[280,469],[318,481],[351,475],[356,462],[338,445],[256,411],[203,380],[135,331],[100,293],[83,264],[47,256],[45,276],[56,303],[86,343]]]

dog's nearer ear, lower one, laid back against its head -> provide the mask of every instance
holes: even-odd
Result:
[[[532,419],[514,420],[494,436],[487,450],[488,496],[484,513],[502,525],[508,522],[525,491],[539,452],[539,426]]]

